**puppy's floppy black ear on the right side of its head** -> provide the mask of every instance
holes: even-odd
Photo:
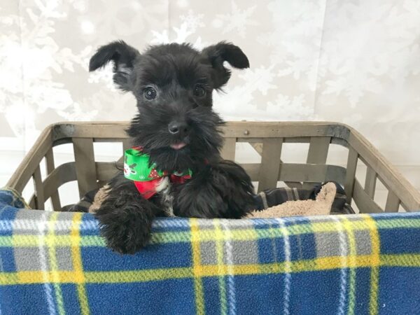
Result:
[[[244,52],[232,43],[221,41],[202,50],[202,55],[207,57],[213,66],[214,72],[211,77],[216,89],[225,85],[230,78],[230,70],[223,66],[227,61],[237,69],[249,68],[249,61]]]

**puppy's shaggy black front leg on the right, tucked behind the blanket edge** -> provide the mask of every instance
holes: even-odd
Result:
[[[255,209],[245,170],[232,161],[212,162],[175,190],[174,213],[201,218],[241,218]]]

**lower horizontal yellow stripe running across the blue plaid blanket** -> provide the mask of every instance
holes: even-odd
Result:
[[[346,267],[372,267],[372,255],[348,257],[352,263]],[[354,258],[354,259],[353,259]],[[232,272],[235,276],[248,274],[273,274],[284,272],[284,262],[271,264],[232,265],[202,265],[199,270],[192,267],[162,268],[146,270],[127,270],[118,272],[84,272],[85,283],[130,283],[141,281],[164,281],[168,279],[185,279],[203,276],[225,276]],[[340,269],[342,257],[332,256],[311,260],[291,261],[291,272],[310,272],[328,269]],[[420,267],[420,254],[381,255],[378,267]],[[60,283],[76,283],[72,271],[57,272]],[[51,272],[48,279],[54,281]],[[2,272],[0,285],[44,283],[41,271]]]

